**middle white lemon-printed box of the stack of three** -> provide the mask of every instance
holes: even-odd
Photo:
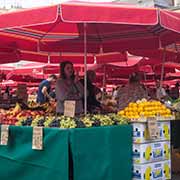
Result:
[[[171,147],[169,141],[148,144],[133,144],[133,162],[135,164],[170,160]]]

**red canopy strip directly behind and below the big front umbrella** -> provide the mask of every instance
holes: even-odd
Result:
[[[12,50],[11,48],[0,48],[0,63],[14,63],[20,60],[34,61],[41,63],[60,63],[62,61],[70,61],[74,64],[84,63],[83,53],[47,53],[33,52],[25,50]],[[112,52],[101,54],[87,54],[87,63],[110,63],[110,62],[127,61],[126,52]]]

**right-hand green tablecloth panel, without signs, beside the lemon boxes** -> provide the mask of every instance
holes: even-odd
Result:
[[[73,129],[74,180],[131,180],[132,128]]]

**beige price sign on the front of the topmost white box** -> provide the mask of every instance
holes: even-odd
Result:
[[[159,138],[159,129],[156,118],[148,118],[147,122],[150,139]]]

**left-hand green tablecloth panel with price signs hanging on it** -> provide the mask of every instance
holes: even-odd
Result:
[[[32,128],[10,127],[0,146],[0,180],[68,180],[68,131],[44,129],[44,150],[32,150]]]

